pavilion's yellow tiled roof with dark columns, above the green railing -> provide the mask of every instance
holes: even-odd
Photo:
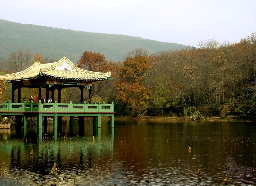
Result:
[[[68,87],[79,87],[81,90],[81,103],[84,101],[84,88],[88,88],[89,103],[91,103],[92,83],[112,80],[110,72],[101,73],[80,69],[66,57],[54,63],[41,64],[40,62],[35,62],[23,71],[0,75],[0,79],[12,84],[12,103],[15,101],[16,89],[18,89],[18,103],[21,102],[20,94],[22,88],[38,88],[38,100],[42,95],[42,88],[46,89],[46,99],[49,98],[49,91],[54,99],[54,90],[57,89],[58,103],[60,103],[61,90]]]

